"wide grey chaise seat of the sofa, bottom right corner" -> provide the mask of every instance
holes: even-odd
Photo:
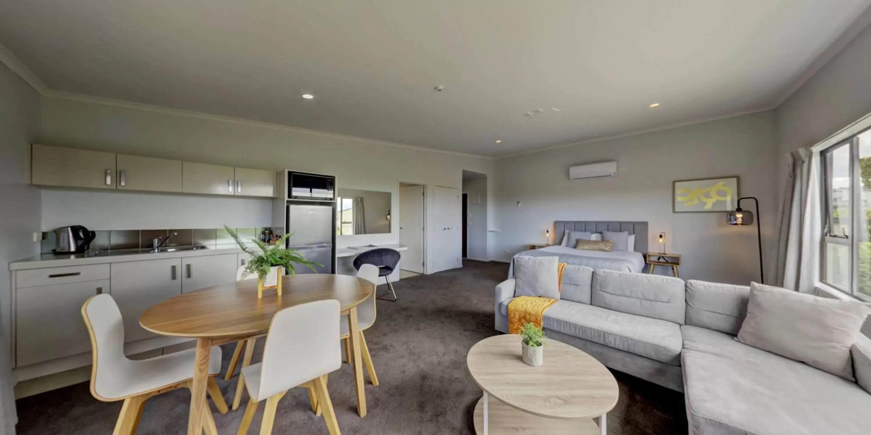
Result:
[[[868,433],[871,395],[859,385],[722,332],[685,325],[681,333],[690,433]]]

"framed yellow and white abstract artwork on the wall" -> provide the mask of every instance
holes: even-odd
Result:
[[[678,180],[672,185],[672,211],[733,211],[739,196],[738,177]]]

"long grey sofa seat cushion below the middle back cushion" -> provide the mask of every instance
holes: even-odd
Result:
[[[559,300],[544,311],[542,326],[665,364],[680,365],[680,326],[658,318]]]

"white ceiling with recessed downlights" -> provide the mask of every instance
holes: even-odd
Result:
[[[17,0],[0,43],[51,90],[498,157],[769,108],[869,4]]]

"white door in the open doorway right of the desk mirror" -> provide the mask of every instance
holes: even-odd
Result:
[[[399,243],[408,246],[400,268],[423,273],[423,186],[399,188]]]

